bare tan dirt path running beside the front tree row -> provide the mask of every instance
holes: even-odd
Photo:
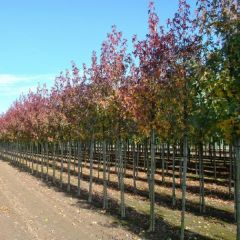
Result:
[[[138,239],[86,205],[0,161],[1,240]]]

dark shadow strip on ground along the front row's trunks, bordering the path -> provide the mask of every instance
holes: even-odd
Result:
[[[16,165],[14,163],[7,161],[11,166],[18,169],[18,171],[26,171],[31,173],[31,169],[26,165]],[[140,239],[179,239],[180,229],[178,227],[172,226],[162,218],[156,218],[156,231],[154,233],[148,232],[149,227],[149,215],[143,214],[141,212],[136,211],[132,207],[126,206],[126,217],[124,219],[121,218],[119,214],[119,203],[109,198],[108,199],[108,210],[106,212],[102,211],[102,196],[99,194],[92,195],[92,202],[88,203],[88,192],[86,190],[81,190],[81,196],[77,197],[77,187],[71,185],[71,191],[67,192],[67,184],[63,183],[62,188],[60,187],[60,183],[58,180],[55,181],[55,184],[52,182],[52,176],[48,175],[48,181],[46,180],[46,174],[44,174],[41,178],[39,173],[36,174],[34,172],[32,174],[34,177],[38,178],[42,181],[43,185],[46,187],[53,188],[55,191],[61,191],[65,194],[66,197],[72,197],[78,199],[77,203],[75,204],[76,207],[79,208],[86,208],[91,211],[98,211],[102,214],[111,215],[115,218],[115,221],[112,224],[109,224],[109,228],[111,227],[118,227],[119,225],[124,227],[125,229],[137,234]],[[96,180],[96,179],[94,179]],[[199,240],[208,240],[212,238],[208,238],[192,231],[185,231],[185,239],[199,239]]]

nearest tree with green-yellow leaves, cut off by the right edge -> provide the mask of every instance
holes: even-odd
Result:
[[[207,60],[214,63],[215,109],[225,138],[235,145],[237,239],[240,239],[240,4],[235,0],[198,1],[198,23],[206,37]],[[214,68],[213,68],[214,67]],[[225,107],[226,111],[219,111]]]

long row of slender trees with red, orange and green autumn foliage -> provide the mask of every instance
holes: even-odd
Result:
[[[224,139],[236,160],[237,237],[240,239],[240,35],[237,0],[186,0],[166,26],[149,4],[148,34],[133,51],[113,26],[90,67],[72,63],[49,91],[22,95],[0,117],[5,141],[150,141],[151,230],[154,230],[156,139],[181,143],[182,231],[189,144]],[[103,145],[105,146],[105,145]],[[105,147],[103,147],[104,149]],[[92,154],[90,147],[90,159]],[[122,152],[122,151],[119,151]],[[121,154],[120,154],[121,155]],[[121,156],[120,156],[121,158]],[[204,186],[203,186],[204,188]]]

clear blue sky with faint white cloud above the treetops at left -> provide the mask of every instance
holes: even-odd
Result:
[[[161,23],[177,2],[155,0]],[[0,113],[38,83],[50,87],[72,60],[89,64],[113,24],[127,39],[143,38],[147,6],[148,0],[0,1]]]

